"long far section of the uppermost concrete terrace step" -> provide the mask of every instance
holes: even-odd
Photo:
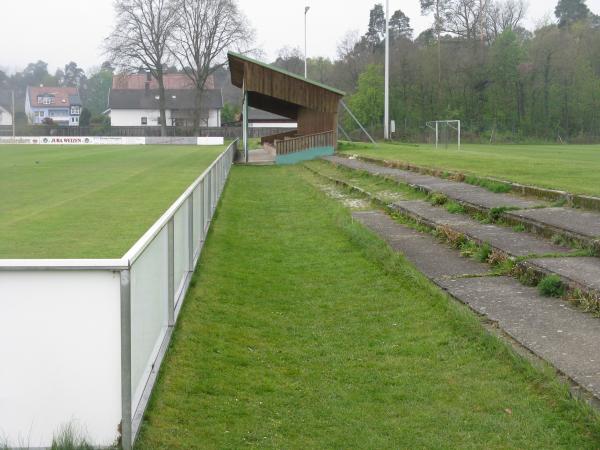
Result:
[[[363,170],[373,175],[392,178],[401,183],[410,184],[427,192],[440,192],[448,198],[467,204],[475,209],[490,210],[493,208],[536,208],[547,203],[541,200],[527,200],[510,194],[496,194],[479,186],[467,183],[443,180],[430,175],[421,175],[407,170],[383,167],[357,159],[343,158],[339,156],[327,156],[323,159],[340,166],[354,170]]]

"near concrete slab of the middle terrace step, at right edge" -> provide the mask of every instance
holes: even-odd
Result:
[[[600,292],[600,258],[536,258],[526,261],[524,265],[538,272],[557,274],[569,284],[584,290]]]

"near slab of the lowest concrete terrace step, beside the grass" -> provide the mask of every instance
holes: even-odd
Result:
[[[438,284],[600,398],[600,320],[508,277]]]

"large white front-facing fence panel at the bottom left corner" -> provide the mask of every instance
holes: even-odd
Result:
[[[91,442],[112,444],[121,422],[119,273],[0,271],[0,291],[0,438],[45,447],[73,420]]]

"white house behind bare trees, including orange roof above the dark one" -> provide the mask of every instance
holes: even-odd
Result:
[[[165,75],[168,126],[192,127],[196,91],[182,74]],[[211,85],[211,84],[208,84]],[[109,95],[108,110],[113,127],[160,126],[158,83],[145,74],[117,75]],[[205,89],[201,98],[201,126],[220,127],[221,89]]]

